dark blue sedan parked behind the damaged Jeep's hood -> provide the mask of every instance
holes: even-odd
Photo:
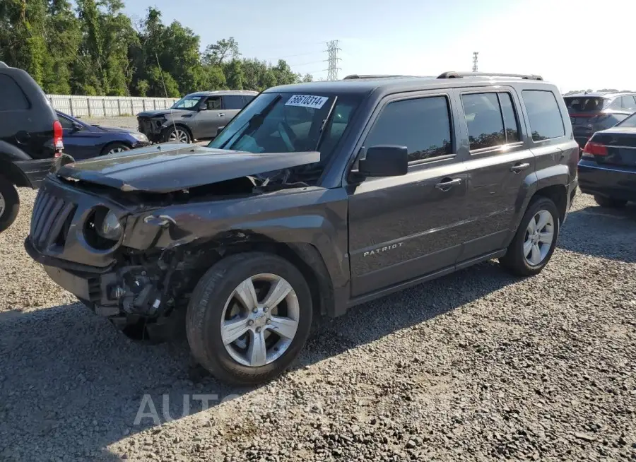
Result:
[[[89,125],[63,112],[56,112],[64,130],[64,153],[75,160],[120,153],[150,144],[146,135],[134,129]]]

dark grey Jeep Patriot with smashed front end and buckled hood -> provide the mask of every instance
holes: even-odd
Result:
[[[201,365],[257,384],[298,356],[317,315],[489,259],[541,271],[577,160],[563,98],[538,76],[281,86],[208,147],[49,174],[25,248],[130,335],[183,316]]]

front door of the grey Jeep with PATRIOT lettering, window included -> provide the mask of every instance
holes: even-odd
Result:
[[[382,102],[363,147],[406,146],[402,177],[349,186],[352,296],[452,267],[464,242],[466,172],[448,93]],[[355,165],[354,165],[355,170]]]

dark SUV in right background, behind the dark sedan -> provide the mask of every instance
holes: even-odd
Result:
[[[609,129],[636,112],[636,93],[578,93],[563,100],[581,149],[596,131]]]

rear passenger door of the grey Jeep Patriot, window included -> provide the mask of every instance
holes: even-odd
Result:
[[[462,88],[457,90],[468,138],[469,230],[459,261],[505,247],[514,227],[519,193],[535,158],[519,125],[519,97],[513,88]]]

